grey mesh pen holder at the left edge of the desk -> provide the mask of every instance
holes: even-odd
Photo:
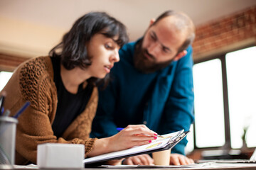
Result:
[[[11,169],[14,165],[17,123],[16,118],[0,116],[0,169]]]

